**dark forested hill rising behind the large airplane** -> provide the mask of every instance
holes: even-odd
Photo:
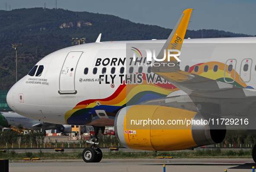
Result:
[[[156,25],[133,23],[117,16],[73,12],[64,9],[0,10],[0,90],[9,90],[15,83],[16,52],[18,47],[18,80],[26,75],[42,57],[71,46],[71,37],[94,42],[102,33],[101,41],[166,39],[171,29]],[[185,38],[242,37],[218,30],[188,30]]]

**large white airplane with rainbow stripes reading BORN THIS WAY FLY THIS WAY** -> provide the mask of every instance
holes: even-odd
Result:
[[[231,130],[255,133],[256,38],[184,39],[191,12],[167,40],[101,42],[100,34],[95,43],[55,51],[6,101],[31,119],[86,125],[86,163],[102,159],[105,126],[114,126],[124,147],[153,151],[220,143]]]

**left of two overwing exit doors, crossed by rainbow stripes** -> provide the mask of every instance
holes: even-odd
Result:
[[[236,79],[236,59],[228,59],[224,69],[224,81],[232,83]]]

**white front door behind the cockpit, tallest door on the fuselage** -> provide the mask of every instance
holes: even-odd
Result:
[[[75,71],[83,52],[69,52],[62,66],[59,77],[59,94],[76,94]]]

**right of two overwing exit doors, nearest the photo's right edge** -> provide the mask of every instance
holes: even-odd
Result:
[[[240,81],[249,82],[251,80],[251,68],[252,68],[252,59],[243,59],[240,68]]]

